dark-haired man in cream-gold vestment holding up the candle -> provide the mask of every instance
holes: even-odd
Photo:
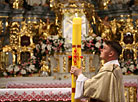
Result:
[[[122,53],[116,41],[105,41],[100,58],[104,65],[97,75],[88,79],[81,68],[71,67],[71,74],[77,76],[75,99],[89,98],[90,102],[125,102],[123,75],[118,58]]]

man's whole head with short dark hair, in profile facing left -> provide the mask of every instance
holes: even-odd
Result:
[[[105,62],[116,60],[122,53],[122,47],[117,41],[105,40],[103,49],[101,49],[100,58]]]

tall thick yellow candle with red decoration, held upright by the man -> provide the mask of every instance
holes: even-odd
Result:
[[[72,31],[72,66],[76,66],[78,68],[81,67],[81,22],[82,19],[80,17],[73,18],[73,31]],[[72,74],[72,95],[71,102],[78,102],[79,100],[75,100],[75,87],[76,80],[75,76]]]

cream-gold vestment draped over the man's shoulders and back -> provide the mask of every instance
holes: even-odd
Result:
[[[76,87],[81,84],[83,86],[83,91],[79,97],[76,95],[76,99],[88,97],[100,100],[93,102],[125,102],[123,75],[119,65],[107,64],[91,79],[83,78],[84,82],[76,84]]]

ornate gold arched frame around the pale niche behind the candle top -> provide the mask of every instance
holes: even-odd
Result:
[[[75,1],[75,0],[50,0],[50,7],[55,11],[56,19],[55,25],[58,26],[58,35],[62,36],[62,21],[65,13],[70,14],[81,14],[84,13],[86,15],[87,20],[89,21],[89,31],[88,35],[93,33],[93,29],[90,27],[90,21],[93,19],[93,15],[95,15],[94,5],[87,1]],[[91,15],[93,14],[93,15]],[[95,18],[94,18],[95,19]]]

